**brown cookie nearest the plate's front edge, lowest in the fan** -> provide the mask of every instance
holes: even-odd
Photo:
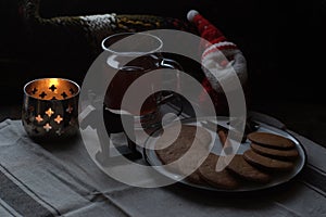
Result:
[[[218,157],[218,155],[210,153],[198,169],[200,177],[209,184],[220,189],[233,190],[239,188],[239,181],[227,169],[215,170]]]

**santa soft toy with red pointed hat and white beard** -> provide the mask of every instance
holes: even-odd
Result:
[[[227,91],[242,88],[247,95],[247,63],[238,47],[228,41],[222,31],[204,18],[198,11],[191,10],[187,18],[198,29],[203,39],[200,48],[202,71],[205,75],[202,85],[210,94],[217,114],[227,115]],[[235,76],[236,74],[236,76]],[[236,86],[235,79],[239,79],[241,87]],[[221,85],[223,82],[223,85]],[[227,90],[225,90],[227,89]],[[204,95],[204,94],[202,94]],[[200,99],[204,102],[208,99]]]

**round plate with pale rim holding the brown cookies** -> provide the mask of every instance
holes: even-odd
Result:
[[[201,126],[204,127],[211,135],[212,137],[214,136],[214,133],[216,135],[216,132],[212,131],[211,129],[206,128],[202,123],[204,123],[206,119],[210,118],[197,118],[197,119],[184,119],[181,120],[183,124],[186,125],[195,125],[195,126]],[[225,126],[228,128],[228,118],[227,117],[217,117],[218,119],[218,125]],[[187,181],[186,179],[183,179],[181,181],[178,181],[181,179],[181,176],[175,173],[172,173],[170,170],[164,169],[164,167],[160,167],[162,166],[161,161],[159,159],[155,151],[153,149],[149,149],[149,148],[153,148],[156,140],[158,140],[158,136],[160,133],[162,133],[162,129],[159,129],[156,131],[154,131],[152,133],[152,137],[149,137],[149,139],[146,141],[145,143],[145,149],[143,149],[143,155],[147,161],[147,163],[151,166],[153,166],[153,168],[155,168],[160,174],[176,180],[178,182],[181,182],[184,184],[187,184],[189,187],[193,187],[193,188],[198,188],[198,189],[204,189],[204,190],[210,190],[210,191],[226,191],[226,192],[241,192],[241,191],[256,191],[256,190],[264,190],[264,189],[268,189],[272,187],[276,187],[283,183],[286,183],[288,181],[290,181],[291,179],[293,179],[304,167],[305,162],[306,162],[306,154],[304,151],[304,148],[302,146],[302,144],[289,132],[283,130],[283,129],[278,129],[276,127],[273,127],[271,125],[267,125],[265,123],[261,123],[255,120],[255,123],[259,124],[259,129],[256,131],[262,131],[262,132],[271,132],[271,133],[275,133],[275,135],[279,135],[283,137],[286,137],[290,140],[292,140],[296,143],[297,150],[299,152],[299,157],[296,159],[294,162],[294,168],[290,171],[287,173],[281,173],[279,176],[273,176],[272,181],[269,181],[268,183],[262,184],[262,183],[254,183],[254,182],[248,182],[248,183],[243,183],[240,188],[235,189],[235,190],[225,190],[225,189],[218,189],[218,188],[214,188],[211,186],[203,186],[203,184],[197,184],[197,183],[192,183]],[[211,152],[215,153],[215,154],[222,154],[222,143],[218,140],[217,136],[215,141],[212,141],[212,146],[213,149],[211,150]],[[214,138],[213,137],[213,138]],[[246,150],[250,149],[250,141],[247,139],[246,142],[241,143],[239,150],[237,151],[237,154],[242,154]]]

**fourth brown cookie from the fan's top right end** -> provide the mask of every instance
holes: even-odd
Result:
[[[267,183],[272,179],[271,175],[263,173],[249,164],[240,154],[234,156],[227,165],[227,169],[248,181]]]

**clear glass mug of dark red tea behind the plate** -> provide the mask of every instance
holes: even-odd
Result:
[[[120,33],[111,35],[102,40],[102,49],[106,53],[103,73],[114,75],[109,84],[104,97],[104,106],[112,113],[130,114],[139,120],[135,128],[141,127],[156,128],[161,125],[162,107],[172,103],[174,113],[179,115],[181,113],[181,100],[174,91],[160,90],[163,84],[171,84],[171,86],[179,86],[178,72],[183,67],[174,60],[163,56],[162,40],[151,34],[147,33]],[[170,68],[172,74],[151,76],[150,78],[139,78],[155,69]],[[138,81],[137,91],[128,92],[128,103],[122,107],[123,99],[127,89]],[[149,97],[143,100],[141,108],[133,106],[139,103],[139,95],[149,93]]]

